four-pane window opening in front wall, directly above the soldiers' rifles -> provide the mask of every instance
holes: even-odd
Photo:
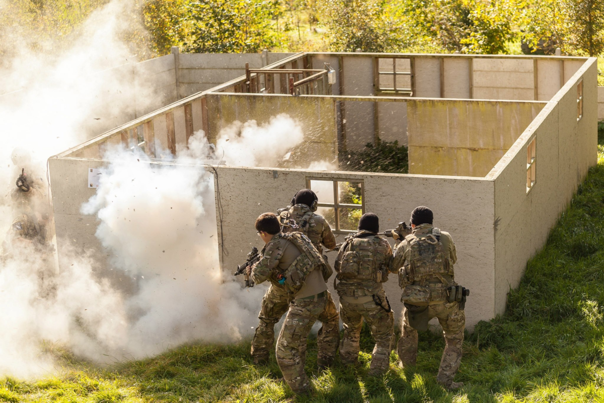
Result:
[[[334,233],[356,232],[365,212],[362,179],[306,178],[306,187],[319,198],[317,214],[323,215]]]

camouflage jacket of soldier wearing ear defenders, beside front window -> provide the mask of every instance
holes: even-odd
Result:
[[[336,237],[325,218],[310,211],[307,205],[295,205],[289,210],[282,211],[279,214],[279,221],[283,232],[298,231],[308,236],[319,253],[323,253],[323,246],[327,249],[336,246]],[[294,223],[295,227],[288,225],[290,223]]]

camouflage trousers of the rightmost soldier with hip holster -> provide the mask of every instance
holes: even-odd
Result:
[[[461,364],[461,344],[466,328],[466,315],[459,309],[458,302],[443,302],[428,306],[428,317],[439,319],[445,335],[445,351],[440,360],[439,374],[436,379],[444,385],[453,381]],[[397,346],[400,361],[415,365],[417,360],[417,330],[409,325],[407,309],[403,308],[403,328]]]

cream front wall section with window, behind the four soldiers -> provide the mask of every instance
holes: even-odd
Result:
[[[223,240],[224,246],[223,270],[234,271],[237,264],[245,261],[252,246],[262,246],[255,233],[255,218],[288,205],[292,195],[306,186],[306,177],[362,179],[365,211],[379,215],[381,229],[394,228],[399,221],[408,222],[416,206],[432,208],[435,226],[450,232],[457,246],[459,261],[455,278],[471,289],[466,305],[467,324],[472,328],[479,320],[490,319],[495,314],[492,181],[236,167],[219,167],[217,171],[215,185],[220,195],[217,203],[222,206],[219,240]],[[338,236],[338,239],[343,238]],[[328,255],[333,262],[333,253]],[[330,287],[332,282],[328,282]],[[385,288],[398,317],[402,304],[396,274],[391,275]]]

